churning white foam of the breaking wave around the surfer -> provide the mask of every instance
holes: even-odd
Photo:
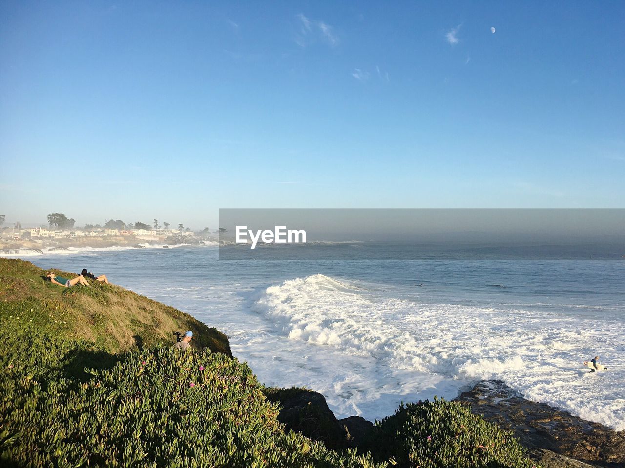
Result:
[[[374,359],[397,375],[422,373],[425,385],[411,389],[412,397],[427,385],[449,391],[441,381],[457,389],[501,379],[528,399],[625,429],[625,329],[619,322],[422,304],[324,275],[270,286],[254,310],[295,343],[317,344],[345,359]],[[609,371],[588,374],[581,361],[597,349]]]

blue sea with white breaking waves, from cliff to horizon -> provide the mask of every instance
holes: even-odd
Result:
[[[145,245],[3,256],[106,273],[190,313],[226,333],[262,383],[321,392],[339,418],[373,421],[497,379],[625,430],[624,246],[307,248],[320,255],[219,260],[217,246]],[[596,355],[607,371],[584,366]]]

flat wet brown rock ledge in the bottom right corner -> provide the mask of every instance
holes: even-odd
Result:
[[[524,399],[501,381],[481,381],[457,400],[467,402],[474,414],[513,431],[521,444],[533,451],[550,451],[593,466],[625,466],[624,431],[617,432],[547,404]],[[584,466],[566,464],[563,459],[560,459],[562,464],[557,464],[556,455],[547,457],[549,466]]]

